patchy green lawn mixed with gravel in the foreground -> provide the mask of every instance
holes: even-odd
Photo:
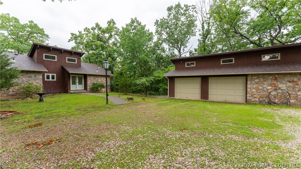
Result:
[[[246,163],[301,163],[297,107],[174,99],[104,105],[105,97],[80,94],[44,100],[1,101],[1,110],[21,112],[1,120],[4,168],[241,168]],[[41,122],[42,126],[23,128]],[[24,148],[58,137],[62,140],[41,149]]]

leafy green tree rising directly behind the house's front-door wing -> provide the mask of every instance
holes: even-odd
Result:
[[[86,27],[83,32],[71,33],[68,42],[74,41],[75,46],[72,50],[85,52],[83,62],[101,65],[104,59],[107,59],[110,62],[109,71],[114,73],[119,45],[118,34],[119,29],[115,21],[110,19],[106,27],[95,23],[95,26]]]

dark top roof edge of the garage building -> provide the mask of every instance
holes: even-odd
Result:
[[[291,47],[291,46],[301,46],[301,43],[293,43],[293,44],[287,44],[287,45],[276,45],[276,46],[269,46],[269,47],[262,47],[262,48],[254,48],[254,49],[244,49],[240,51],[230,51],[230,52],[222,52],[222,53],[215,53],[215,54],[204,54],[204,55],[197,55],[197,56],[188,56],[188,57],[178,57],[178,58],[172,58],[170,59],[173,63],[174,60],[185,60],[185,59],[191,59],[191,58],[198,58],[198,57],[206,57],[206,56],[220,56],[225,54],[237,54],[240,52],[250,52],[250,51],[261,51],[266,49],[274,49],[274,48],[283,48],[283,47]]]

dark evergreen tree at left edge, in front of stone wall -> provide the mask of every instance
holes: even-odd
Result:
[[[13,62],[7,54],[0,53],[1,63],[0,63],[0,89],[6,89],[16,86],[18,83],[14,81],[20,78],[20,70],[17,67],[13,67]]]

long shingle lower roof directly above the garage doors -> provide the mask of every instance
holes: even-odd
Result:
[[[301,72],[301,62],[172,70],[163,76],[231,75]]]

